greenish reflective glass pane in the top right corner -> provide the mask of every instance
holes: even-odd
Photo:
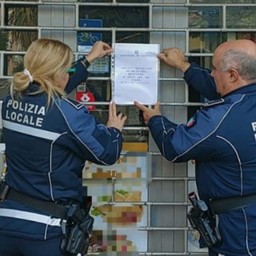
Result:
[[[227,7],[227,28],[254,28],[256,22],[255,7]]]

